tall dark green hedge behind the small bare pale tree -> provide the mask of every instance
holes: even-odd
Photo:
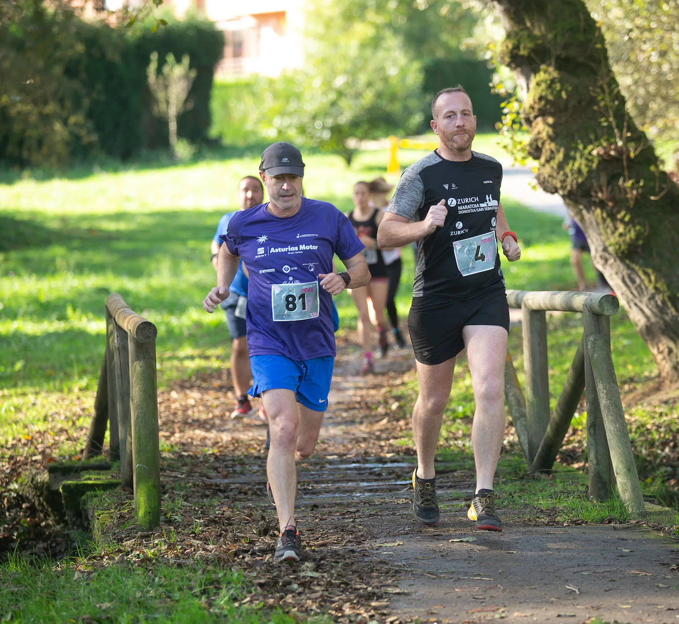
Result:
[[[4,58],[11,65],[11,59],[23,58],[26,63],[30,46],[33,53],[22,73],[33,78],[17,75],[10,84],[16,95],[0,98],[0,162],[24,167],[49,162],[50,154],[61,160],[93,152],[125,159],[143,148],[167,146],[167,124],[151,114],[146,82],[154,50],[161,63],[169,52],[177,60],[189,54],[198,73],[189,94],[193,107],[178,120],[179,136],[205,141],[223,34],[195,16],[164,18],[168,24],[152,32],[150,24],[115,29],[36,4],[21,14],[0,37],[0,62]],[[35,45],[37,37],[41,46]]]

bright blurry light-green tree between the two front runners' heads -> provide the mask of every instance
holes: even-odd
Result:
[[[422,79],[400,39],[382,32],[379,20],[344,13],[348,4],[357,5],[314,4],[305,27],[304,70],[272,82],[265,109],[273,136],[318,145],[350,163],[356,150],[351,139],[380,138],[398,127],[414,131],[421,122]]]

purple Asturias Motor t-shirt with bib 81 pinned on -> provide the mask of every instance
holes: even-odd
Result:
[[[364,245],[332,204],[303,197],[287,218],[267,206],[236,213],[220,236],[249,273],[249,353],[298,361],[334,357],[332,295],[318,285],[318,274],[332,272],[333,254],[347,260]]]

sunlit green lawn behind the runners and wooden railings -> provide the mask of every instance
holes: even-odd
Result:
[[[476,141],[476,149],[502,156],[495,135],[479,135]],[[423,154],[401,150],[401,167]],[[339,156],[309,154],[305,193],[348,210],[354,181],[384,175],[386,160],[386,150],[359,152],[348,168]],[[247,156],[189,164],[113,163],[110,171],[83,166],[62,175],[34,172],[35,179],[0,176],[7,180],[0,185],[0,217],[28,220],[31,232],[21,244],[0,252],[0,439],[16,434],[17,423],[47,427],[43,406],[54,402],[53,395],[92,404],[110,292],[120,292],[134,311],[158,326],[160,388],[224,366],[230,341],[223,316],[200,308],[215,276],[210,239],[221,214],[236,209],[238,179],[255,173],[258,164],[259,158]],[[561,220],[511,197],[503,205],[523,249],[521,261],[503,262],[507,288],[574,288]],[[414,274],[411,249],[403,249],[403,266],[397,305],[405,319]],[[587,263],[585,271],[593,283]],[[337,307],[340,332],[353,331],[356,310],[350,298],[340,295]],[[561,325],[559,332],[550,332],[550,349],[557,353],[550,361],[555,388],[572,358],[562,354],[559,336],[570,347],[579,339],[579,326],[575,321],[563,332]],[[619,375],[653,374],[648,349],[623,314],[612,327],[620,348],[614,351]],[[514,334],[511,349],[520,369],[521,339]],[[460,366],[449,411],[469,417],[471,400],[471,380]]]

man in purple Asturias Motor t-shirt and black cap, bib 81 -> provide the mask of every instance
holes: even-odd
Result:
[[[269,202],[234,215],[217,260],[217,286],[203,301],[212,312],[229,294],[242,258],[249,273],[245,313],[253,386],[269,419],[267,489],[275,500],[280,537],[276,561],[299,559],[295,521],[297,457],[314,450],[327,409],[335,334],[332,296],[370,281],[363,243],[332,204],[301,194],[304,162],[297,148],[264,150],[259,175]],[[346,272],[333,271],[333,254]]]

